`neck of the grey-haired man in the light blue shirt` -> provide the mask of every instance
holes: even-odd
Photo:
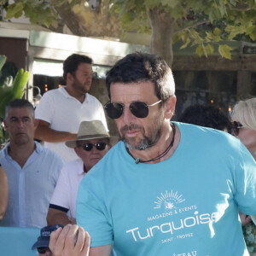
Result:
[[[16,145],[14,143],[10,143],[8,148],[8,154],[20,165],[20,167],[23,167],[26,164],[26,160],[28,160],[28,158],[35,150],[35,147],[36,146],[33,141],[32,143],[24,145]]]

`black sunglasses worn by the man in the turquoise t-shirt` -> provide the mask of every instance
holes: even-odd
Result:
[[[157,105],[160,102],[161,100],[158,102],[154,102],[151,105],[147,105],[144,102],[132,102],[129,108],[134,116],[136,116],[139,119],[143,119],[148,116],[148,107],[153,107],[154,105]],[[109,118],[119,119],[119,117],[124,112],[125,105],[122,103],[107,102],[104,108],[106,108]]]

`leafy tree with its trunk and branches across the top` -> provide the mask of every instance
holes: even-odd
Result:
[[[16,0],[6,9],[6,19],[25,14],[32,23],[52,29],[67,24],[79,36],[151,33],[151,52],[170,66],[177,42],[182,49],[196,45],[200,56],[217,49],[230,59],[231,48],[224,40],[256,40],[255,0]]]

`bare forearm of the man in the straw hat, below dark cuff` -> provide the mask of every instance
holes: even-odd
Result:
[[[77,224],[75,218],[68,218],[66,212],[54,208],[49,208],[46,220],[49,225],[62,224],[65,226],[67,224]]]

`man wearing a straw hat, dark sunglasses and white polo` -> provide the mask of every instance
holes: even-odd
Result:
[[[117,138],[109,136],[100,120],[83,121],[80,124],[77,139],[66,142],[67,147],[73,148],[79,159],[67,162],[61,170],[49,202],[48,224],[76,224],[79,183],[116,141]]]

